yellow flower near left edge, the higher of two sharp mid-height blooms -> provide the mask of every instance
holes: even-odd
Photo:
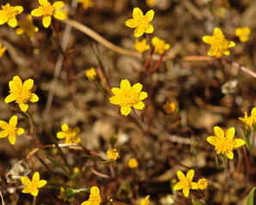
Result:
[[[9,95],[4,99],[4,102],[9,103],[15,100],[15,103],[19,104],[21,111],[27,112],[27,101],[37,102],[39,100],[39,97],[30,91],[33,85],[34,81],[32,79],[28,79],[22,84],[21,78],[15,75],[13,80],[9,81]]]

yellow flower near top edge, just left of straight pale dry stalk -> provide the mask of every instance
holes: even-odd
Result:
[[[31,15],[42,16],[43,15],[43,25],[44,27],[49,27],[52,21],[52,15],[59,19],[64,20],[66,16],[64,12],[58,10],[64,7],[64,2],[58,1],[53,4],[49,3],[47,0],[39,0],[41,6],[38,9],[31,11]]]

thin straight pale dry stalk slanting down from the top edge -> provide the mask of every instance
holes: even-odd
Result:
[[[77,7],[77,1],[76,0],[72,0],[71,3],[71,14],[72,11],[73,13],[75,12]],[[61,42],[61,48],[63,51],[66,50],[66,47],[68,45],[68,39],[70,38],[70,31],[71,31],[71,26],[67,25],[64,29],[64,35],[63,35],[63,39]],[[54,69],[54,75],[53,75],[53,80],[52,80],[52,84],[51,84],[51,88],[50,88],[50,92],[48,94],[47,97],[47,102],[46,102],[46,108],[44,111],[44,116],[43,116],[43,122],[46,122],[46,119],[48,118],[51,106],[52,106],[52,100],[53,100],[53,96],[57,87],[57,83],[58,83],[58,77],[60,75],[60,71],[62,68],[62,64],[64,62],[64,53],[60,53],[58,55],[58,59],[57,59],[57,63],[55,65],[55,69]]]

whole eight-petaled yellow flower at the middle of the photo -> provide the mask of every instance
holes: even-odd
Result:
[[[128,80],[122,80],[119,87],[113,87],[112,93],[115,95],[110,97],[110,103],[121,106],[121,114],[129,115],[131,112],[131,106],[135,109],[142,110],[144,104],[141,100],[148,97],[148,93],[141,92],[143,85],[136,83],[131,87]]]

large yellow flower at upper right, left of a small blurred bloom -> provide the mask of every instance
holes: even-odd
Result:
[[[222,57],[222,54],[229,56],[229,48],[234,47],[235,43],[225,39],[222,30],[216,27],[213,36],[205,35],[203,40],[206,44],[210,44],[210,50],[207,52],[209,56]]]

